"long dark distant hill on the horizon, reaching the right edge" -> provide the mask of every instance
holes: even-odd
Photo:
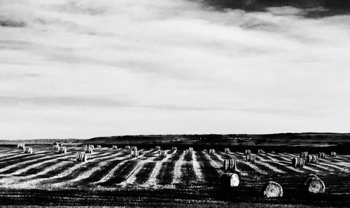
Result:
[[[274,146],[350,146],[350,134],[169,134],[94,137],[85,144],[200,144]]]

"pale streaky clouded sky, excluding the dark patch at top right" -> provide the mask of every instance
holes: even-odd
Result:
[[[350,132],[350,15],[304,12],[0,0],[0,139]]]

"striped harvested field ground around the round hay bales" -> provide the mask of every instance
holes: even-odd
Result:
[[[345,154],[292,167],[291,159],[299,153],[257,154],[257,161],[251,163],[235,147],[228,154],[216,149],[215,155],[196,147],[192,156],[182,149],[169,150],[167,158],[160,158],[154,148],[141,148],[139,158],[131,158],[125,148],[105,146],[88,154],[87,162],[76,162],[76,152],[84,151],[83,145],[70,144],[65,154],[53,151],[50,145],[32,148],[33,154],[25,154],[17,146],[0,146],[2,205],[350,204],[350,155]],[[235,188],[220,185],[223,160],[228,158],[238,160],[240,183]],[[304,177],[311,173],[325,183],[324,194],[311,195],[302,187]],[[263,197],[261,190],[267,181],[281,184],[283,197]]]

